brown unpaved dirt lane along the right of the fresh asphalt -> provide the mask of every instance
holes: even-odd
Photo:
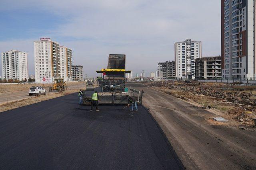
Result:
[[[256,129],[209,121],[220,117],[142,84],[143,105],[158,121],[188,169],[256,169]]]

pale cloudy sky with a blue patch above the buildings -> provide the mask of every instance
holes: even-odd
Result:
[[[149,76],[186,39],[202,41],[203,57],[221,52],[219,0],[1,0],[0,21],[0,52],[27,52],[28,74],[40,37],[71,48],[88,77],[109,54],[126,54],[126,70]]]

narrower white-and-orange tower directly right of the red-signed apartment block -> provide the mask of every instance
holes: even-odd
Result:
[[[61,78],[65,81],[72,81],[72,49],[60,47]]]

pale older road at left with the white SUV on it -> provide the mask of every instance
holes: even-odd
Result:
[[[85,87],[85,83],[84,84],[75,84],[75,85],[68,86],[68,90],[79,89],[79,88],[84,88],[84,87]],[[47,87],[45,87],[45,89],[47,92],[49,92],[49,89]],[[52,93],[57,93],[57,91],[55,90]],[[5,104],[8,102],[13,102],[16,100],[22,100],[22,99],[27,99],[27,98],[31,98],[31,96],[28,95],[28,90],[20,91],[20,92],[0,93],[0,104]]]

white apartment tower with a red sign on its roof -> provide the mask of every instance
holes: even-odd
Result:
[[[34,41],[35,79],[61,78],[60,45],[50,38]]]

